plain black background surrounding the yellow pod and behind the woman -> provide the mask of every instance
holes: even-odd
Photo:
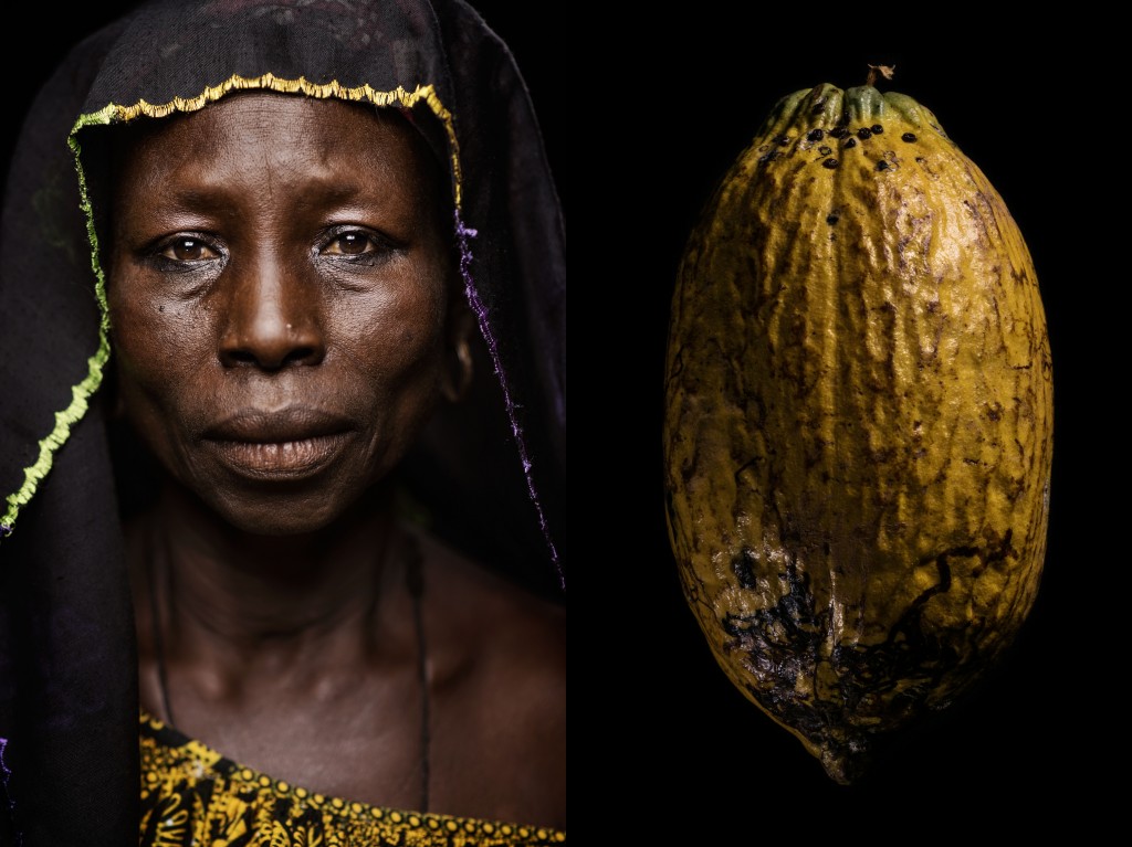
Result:
[[[582,232],[572,751],[581,826],[618,832],[583,842],[988,842],[1118,826],[1129,758],[1124,49],[1080,7],[1024,24],[954,7],[921,21],[889,6],[747,18],[718,2],[669,15],[626,5],[625,21],[610,18],[615,8],[479,8],[524,70]],[[66,24],[72,35],[31,66],[9,53],[5,78],[45,75],[67,42],[114,14],[80,10]],[[868,62],[895,66],[881,87],[929,107],[1018,221],[1046,305],[1056,410],[1046,570],[1015,649],[846,788],[715,667],[668,546],[660,421],[668,304],[700,208],[780,96],[859,85]]]

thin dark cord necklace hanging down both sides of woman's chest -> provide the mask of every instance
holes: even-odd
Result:
[[[392,529],[389,530],[392,531]],[[424,640],[424,615],[421,611],[424,598],[424,577],[421,567],[420,542],[412,533],[402,533],[405,538],[405,587],[413,604],[413,630],[417,636],[417,684],[420,697],[420,760],[421,760],[421,812],[428,811],[429,802],[429,760],[431,749],[431,735],[429,726],[431,724],[431,700],[428,685],[428,643]],[[388,542],[386,542],[388,544]],[[157,602],[157,586],[155,564],[156,538],[151,534],[151,551],[148,558],[149,572],[147,581],[149,584],[149,614],[153,619],[151,629],[153,630],[153,650],[157,659],[157,685],[161,689],[161,708],[164,710],[164,720],[168,726],[175,727],[173,719],[173,707],[169,697],[169,674],[165,669],[165,645],[162,638],[161,606]],[[384,558],[384,553],[383,553]],[[163,561],[165,561],[163,559]],[[169,589],[170,569],[162,568],[166,578],[165,588]],[[168,594],[168,590],[166,590]]]

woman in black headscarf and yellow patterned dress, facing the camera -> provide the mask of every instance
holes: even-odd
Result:
[[[561,219],[478,16],[139,7],[0,262],[0,833],[564,840]]]

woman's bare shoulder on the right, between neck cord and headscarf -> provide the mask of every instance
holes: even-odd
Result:
[[[565,607],[443,546],[422,553],[432,684],[458,716],[437,721],[437,742],[505,818],[565,830]]]

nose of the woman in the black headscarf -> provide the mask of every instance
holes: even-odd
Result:
[[[221,321],[225,366],[275,371],[321,362],[326,351],[317,286],[274,261],[258,262],[221,284],[231,286]]]

